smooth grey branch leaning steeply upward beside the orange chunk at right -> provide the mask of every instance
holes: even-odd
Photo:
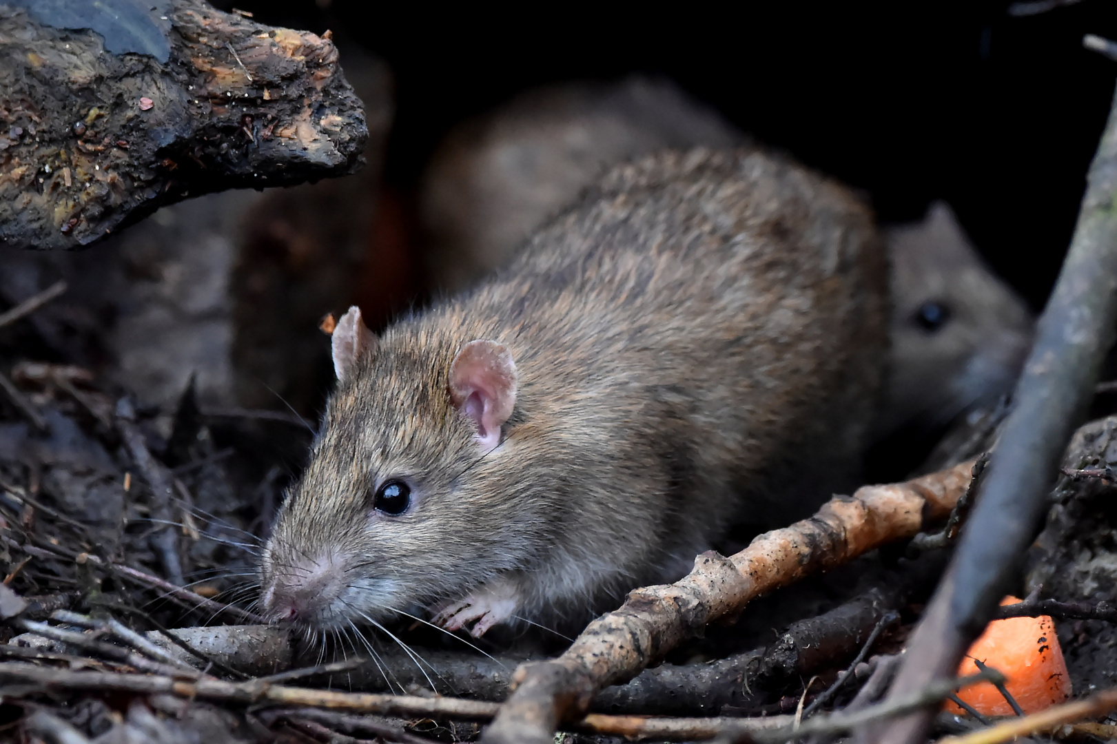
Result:
[[[954,674],[985,627],[1032,541],[1059,460],[1085,416],[1117,327],[1117,97],[1114,98],[1070,250],[1016,384],[1015,406],[990,460],[951,566],[908,642],[891,696]],[[933,712],[922,710],[872,741],[925,740]]]

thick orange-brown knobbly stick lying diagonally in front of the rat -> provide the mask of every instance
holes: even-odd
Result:
[[[970,484],[964,462],[903,484],[866,486],[838,496],[811,518],[756,537],[739,553],[709,552],[674,584],[629,593],[594,620],[557,659],[522,665],[516,690],[481,741],[543,744],[584,714],[594,693],[658,660],[708,622],[739,612],[761,594],[824,571],[945,518]]]

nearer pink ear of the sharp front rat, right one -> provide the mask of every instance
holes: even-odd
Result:
[[[500,443],[500,427],[516,404],[516,364],[495,341],[470,341],[450,364],[450,400],[477,427],[486,450]]]

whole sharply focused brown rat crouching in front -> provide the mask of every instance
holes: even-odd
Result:
[[[617,168],[507,268],[380,337],[352,308],[261,556],[265,613],[584,619],[735,521],[809,513],[833,484],[790,474],[848,470],[873,413],[885,274],[838,184],[697,150]]]

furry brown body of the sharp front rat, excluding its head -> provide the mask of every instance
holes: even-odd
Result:
[[[562,524],[554,553],[593,556],[617,591],[685,572],[731,523],[783,524],[855,485],[886,292],[844,189],[757,150],[696,150],[617,168],[420,323],[509,350],[519,417],[490,487],[532,483],[526,509]]]

